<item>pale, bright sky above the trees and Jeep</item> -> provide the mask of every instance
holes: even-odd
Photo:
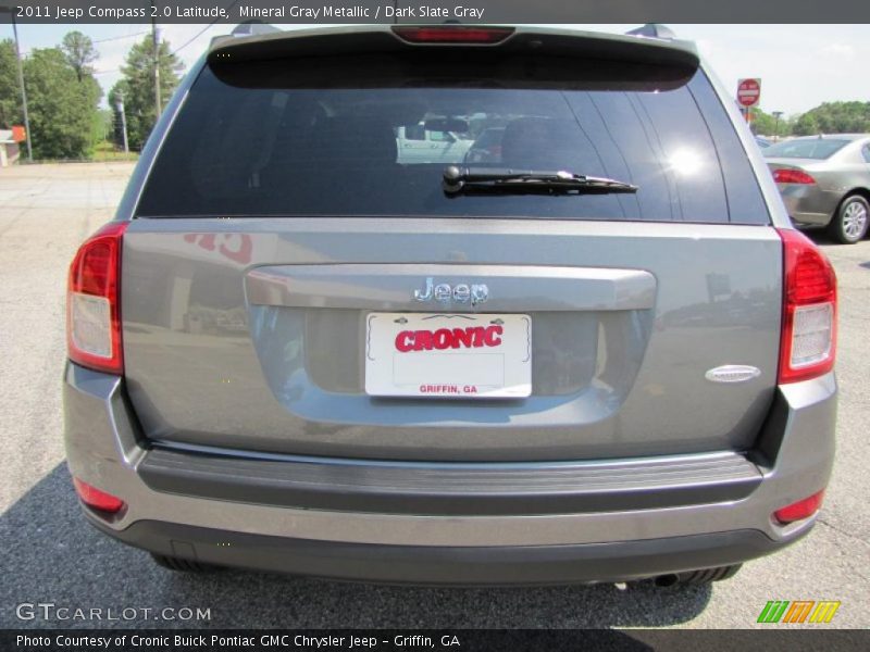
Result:
[[[158,25],[178,58],[189,67],[212,36],[226,25]],[[284,28],[293,28],[284,25]],[[637,25],[577,25],[593,32],[623,33]],[[870,101],[870,25],[669,25],[678,38],[694,40],[726,88],[737,79],[761,78],[760,108],[803,113],[831,101]],[[117,82],[124,57],[150,25],[18,25],[22,53],[60,43],[73,29],[94,39],[100,58],[97,79],[108,93]],[[0,25],[0,38],[12,27]]]

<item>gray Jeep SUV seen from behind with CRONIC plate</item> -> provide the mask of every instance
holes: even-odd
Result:
[[[721,579],[815,523],[835,286],[688,43],[225,38],[73,261],[70,471],[176,569]]]

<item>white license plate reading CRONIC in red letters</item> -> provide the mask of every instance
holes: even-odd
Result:
[[[365,392],[522,398],[532,393],[529,315],[370,313]]]

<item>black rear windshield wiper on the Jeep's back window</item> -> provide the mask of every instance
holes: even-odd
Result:
[[[637,192],[637,186],[604,177],[585,176],[563,170],[510,170],[449,165],[444,171],[444,192],[458,195],[609,195]]]

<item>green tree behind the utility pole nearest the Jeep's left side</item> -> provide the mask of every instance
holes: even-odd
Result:
[[[157,52],[160,70],[160,95],[165,102],[178,85],[178,74],[184,70],[184,64],[172,53],[167,41],[160,42]],[[117,100],[123,97],[129,147],[138,150],[145,145],[157,122],[154,43],[151,36],[146,36],[130,48],[126,63],[121,67],[121,73],[123,75],[121,80],[109,93],[109,102],[112,110],[116,111]],[[115,122],[120,122],[120,117]]]

